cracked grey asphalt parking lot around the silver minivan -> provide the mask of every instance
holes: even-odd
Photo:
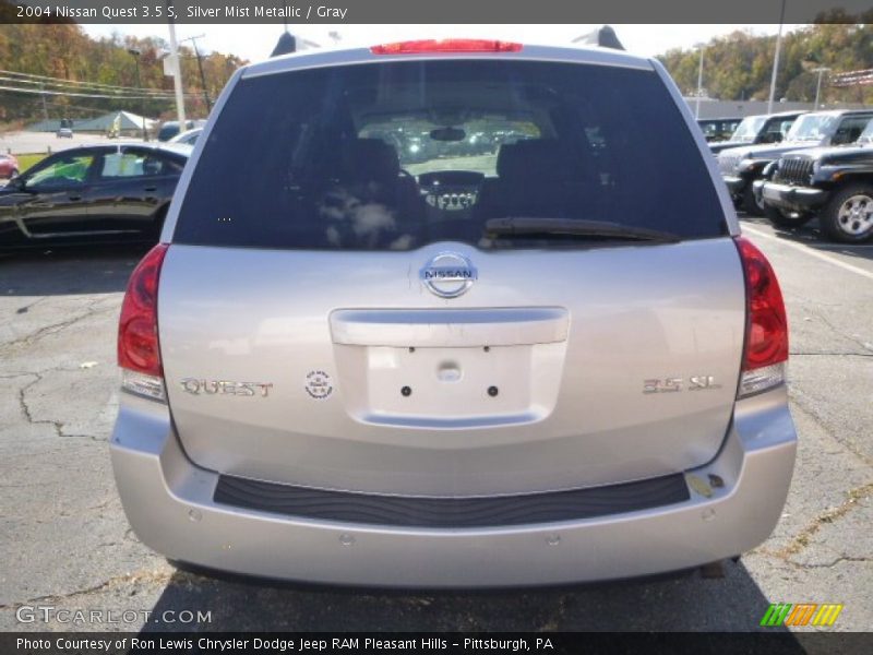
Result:
[[[116,322],[143,251],[0,259],[0,630],[755,630],[780,602],[840,603],[830,630],[869,630],[873,243],[824,243],[814,222],[797,234],[762,219],[743,226],[780,276],[791,325],[800,449],[773,536],[727,562],[723,577],[488,593],[271,586],[176,571],[131,533],[107,444]],[[136,616],[19,622],[17,610],[34,606]],[[182,610],[210,621],[184,624]]]

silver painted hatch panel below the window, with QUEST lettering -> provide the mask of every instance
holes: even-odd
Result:
[[[447,250],[479,275],[453,309],[515,315],[483,319],[482,334],[441,318],[449,301],[428,293],[418,271]],[[186,451],[206,468],[384,493],[575,488],[701,465],[730,418],[745,296],[729,238],[540,254],[447,242],[405,253],[174,245],[162,275],[169,401]],[[540,282],[558,278],[576,282]],[[560,340],[522,332],[530,307],[561,308]],[[328,320],[348,309],[433,315],[423,325],[402,319],[405,341],[382,330],[381,341],[349,343]],[[443,382],[442,367],[462,379]],[[330,397],[309,393],[313,371],[333,380]],[[687,386],[702,374],[718,388]],[[191,378],[273,386],[267,397],[192,394]],[[683,379],[682,391],[644,393],[658,378]]]

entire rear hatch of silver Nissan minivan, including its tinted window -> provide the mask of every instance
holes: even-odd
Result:
[[[459,497],[715,456],[745,296],[704,155],[647,62],[554,52],[243,75],[162,272],[195,463]]]

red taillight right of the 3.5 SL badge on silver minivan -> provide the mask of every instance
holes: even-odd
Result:
[[[746,325],[739,396],[785,382],[788,317],[773,266],[752,241],[737,237],[745,274]]]

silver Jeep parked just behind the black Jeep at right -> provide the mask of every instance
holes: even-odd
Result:
[[[758,216],[764,206],[755,196],[753,183],[764,168],[787,152],[824,145],[845,145],[859,139],[873,118],[870,110],[834,110],[804,114],[776,145],[733,147],[718,154],[718,166],[737,207]]]

